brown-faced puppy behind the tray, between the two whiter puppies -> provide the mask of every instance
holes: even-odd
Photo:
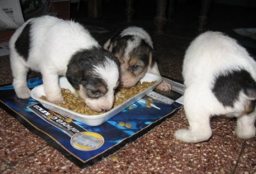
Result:
[[[153,42],[144,29],[131,26],[121,30],[104,44],[104,48],[119,59],[124,88],[134,86],[147,72],[160,76],[153,58]],[[171,84],[163,81],[157,89],[170,91]]]

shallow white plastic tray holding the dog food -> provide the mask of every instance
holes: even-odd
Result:
[[[126,109],[126,107],[129,107],[131,104],[135,103],[135,101],[138,101],[140,98],[144,97],[145,95],[153,91],[153,89],[160,82],[162,82],[162,77],[157,76],[156,74],[146,73],[145,76],[141,79],[141,82],[153,82],[153,81],[156,81],[156,83],[154,83],[153,86],[150,86],[150,88],[145,89],[144,91],[140,92],[139,94],[135,95],[129,100],[124,101],[123,104],[120,104],[119,106],[112,108],[108,112],[101,113],[99,115],[84,115],[81,113],[73,112],[72,110],[66,109],[56,104],[50,103],[49,101],[42,100],[40,97],[42,95],[45,95],[43,85],[37,86],[34,89],[32,89],[30,95],[32,98],[39,101],[44,107],[46,107],[49,110],[57,112],[60,115],[64,115],[69,118],[84,122],[87,125],[96,126],[96,125],[102,124],[103,122],[107,121],[109,118],[112,118],[112,116]],[[67,81],[66,77],[59,78],[59,85],[61,86],[61,88],[70,89],[70,91],[72,92],[75,91],[75,89]]]

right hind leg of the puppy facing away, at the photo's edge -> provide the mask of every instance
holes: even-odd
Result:
[[[236,134],[240,139],[251,139],[255,136],[255,119],[256,119],[256,107],[253,112],[248,115],[242,115],[237,118]]]

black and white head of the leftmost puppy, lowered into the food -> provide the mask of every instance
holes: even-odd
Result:
[[[119,85],[119,62],[98,47],[76,52],[67,65],[67,79],[85,103],[97,112],[110,110]]]

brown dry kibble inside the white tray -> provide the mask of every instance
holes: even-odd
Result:
[[[139,92],[144,91],[145,89],[152,86],[154,83],[156,82],[139,82],[131,88],[118,89],[117,93],[115,94],[114,107],[119,106],[124,101],[132,98],[136,94],[139,94]],[[84,103],[84,100],[81,97],[76,94],[72,94],[69,89],[62,88],[61,93],[66,103],[59,103],[58,106],[73,110],[74,112],[78,112],[84,115],[98,115],[100,113],[104,113],[91,110],[90,107],[88,107],[87,104]],[[43,100],[47,100],[45,96],[41,96],[40,98]]]

